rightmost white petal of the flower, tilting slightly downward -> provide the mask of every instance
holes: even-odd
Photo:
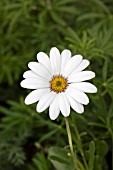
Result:
[[[93,84],[88,83],[88,82],[71,83],[69,86],[79,89],[86,93],[96,93],[97,92],[97,88]]]

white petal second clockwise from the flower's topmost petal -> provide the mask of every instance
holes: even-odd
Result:
[[[82,58],[83,57],[81,55],[73,56],[66,64],[63,70],[63,76],[65,77],[69,76],[76,69],[76,67],[81,63]]]

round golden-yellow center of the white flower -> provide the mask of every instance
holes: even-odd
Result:
[[[64,92],[67,86],[67,79],[63,76],[53,76],[52,80],[50,81],[50,88],[56,93]]]

